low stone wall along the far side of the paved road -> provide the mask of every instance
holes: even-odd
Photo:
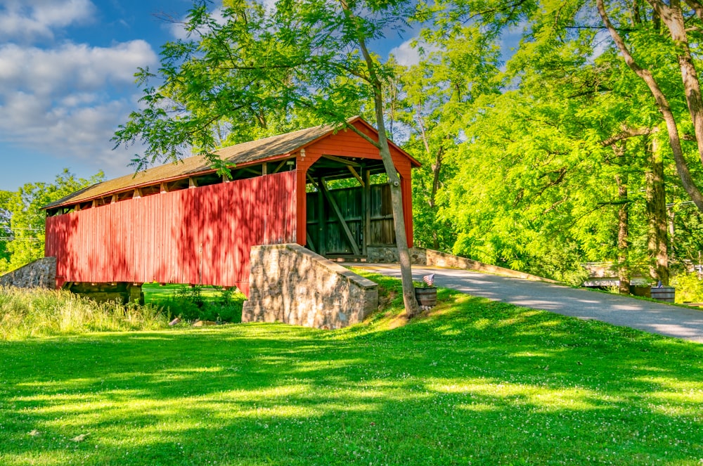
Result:
[[[522,278],[523,280],[543,281],[557,283],[549,278],[538,277],[531,273],[515,271],[510,268],[484,264],[483,262],[459,257],[446,252],[427,250],[424,247],[411,247],[411,261],[413,264],[422,266],[439,266],[465,268],[479,272],[495,273],[507,277]],[[397,264],[398,250],[395,247],[368,247],[368,262],[371,264]]]

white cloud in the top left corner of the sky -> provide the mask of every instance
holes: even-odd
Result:
[[[0,0],[0,38],[32,41],[53,38],[53,29],[93,18],[90,0]]]

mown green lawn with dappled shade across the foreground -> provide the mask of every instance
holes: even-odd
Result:
[[[702,345],[440,299],[335,331],[0,341],[0,464],[703,464]]]

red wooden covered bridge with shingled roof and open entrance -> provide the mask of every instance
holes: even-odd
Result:
[[[363,119],[350,123],[371,138]],[[408,244],[411,168],[396,145]],[[189,283],[236,286],[249,295],[254,245],[297,242],[319,254],[365,257],[394,243],[378,149],[351,129],[327,126],[223,148],[232,169],[218,176],[190,157],[98,183],[44,207],[46,257],[57,259],[57,287],[73,283]],[[328,188],[350,179],[356,186]]]

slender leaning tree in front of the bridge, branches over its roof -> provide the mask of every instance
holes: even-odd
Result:
[[[141,141],[137,167],[178,160],[195,148],[226,171],[214,155],[222,124],[237,133],[247,124],[266,124],[266,115],[305,109],[319,122],[356,131],[379,150],[391,188],[403,297],[408,316],[418,312],[404,230],[401,187],[390,157],[385,91],[393,67],[368,48],[369,41],[402,27],[411,2],[393,0],[280,0],[267,10],[231,1],[222,20],[205,3],[191,9],[190,37],[162,48],[160,86],[149,70],[138,72],[144,108],[133,112],[115,134],[117,145]],[[350,109],[370,102],[378,140],[347,124]]]

